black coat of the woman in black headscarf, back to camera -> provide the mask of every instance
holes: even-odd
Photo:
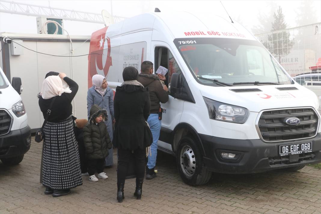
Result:
[[[145,149],[153,141],[147,124],[151,108],[148,90],[125,84],[116,88],[114,97],[115,132],[113,145],[123,150]]]

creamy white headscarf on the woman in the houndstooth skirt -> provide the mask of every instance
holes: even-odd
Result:
[[[61,96],[62,93],[71,93],[69,87],[64,88],[62,80],[59,76],[48,76],[42,82],[41,97],[44,99],[50,99],[55,96]]]

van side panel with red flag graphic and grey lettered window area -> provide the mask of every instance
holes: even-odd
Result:
[[[108,82],[123,82],[124,68],[133,66],[140,71],[142,62],[149,54],[152,30],[119,36],[120,31],[113,29],[115,27],[111,25],[94,32],[91,36],[92,55],[89,56],[88,87],[91,87],[91,77],[95,74],[105,76]],[[114,37],[109,37],[109,30]]]

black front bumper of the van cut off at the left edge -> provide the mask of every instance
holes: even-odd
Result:
[[[12,158],[25,154],[30,149],[30,127],[10,131],[0,136],[0,158]]]

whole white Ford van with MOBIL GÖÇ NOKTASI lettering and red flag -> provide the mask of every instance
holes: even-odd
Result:
[[[187,184],[212,172],[298,170],[321,160],[319,103],[257,39],[219,16],[146,13],[91,36],[88,84],[115,89],[143,61],[169,69],[159,150],[177,158]]]

